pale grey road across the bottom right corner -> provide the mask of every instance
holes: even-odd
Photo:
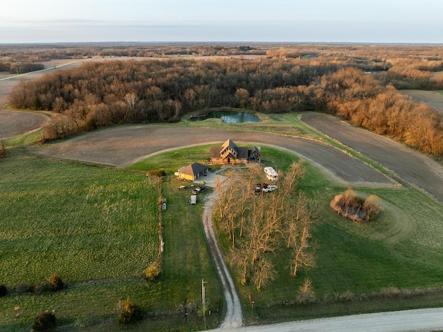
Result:
[[[215,329],[214,332],[413,332],[443,331],[443,308],[394,311],[304,320],[282,324]]]

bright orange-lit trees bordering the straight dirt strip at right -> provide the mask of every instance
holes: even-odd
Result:
[[[325,109],[352,125],[443,156],[443,112],[415,103],[392,85],[383,87],[372,76],[348,68],[324,76],[317,91]]]

